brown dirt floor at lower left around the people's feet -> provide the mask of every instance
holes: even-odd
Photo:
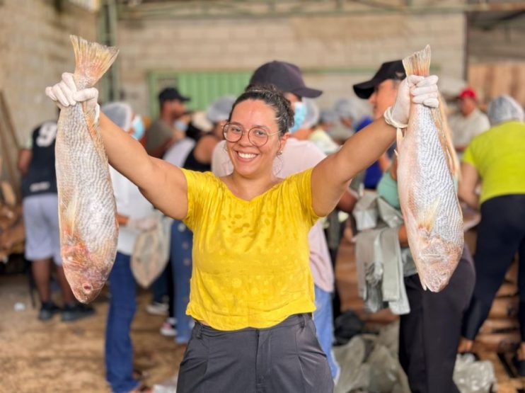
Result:
[[[103,360],[106,295],[93,303],[93,317],[62,322],[55,315],[42,322],[28,288],[26,275],[0,275],[0,392],[110,392]],[[163,317],[145,311],[149,300],[149,292],[141,290],[132,341],[135,365],[152,386],[177,373],[185,346],[161,336]]]

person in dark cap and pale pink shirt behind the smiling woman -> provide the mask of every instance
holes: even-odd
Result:
[[[282,154],[274,161],[274,171],[278,177],[287,177],[311,168],[325,158],[325,154],[308,140],[299,140],[294,137],[294,132],[299,130],[306,118],[306,106],[302,98],[316,98],[323,93],[311,89],[304,84],[301,70],[294,64],[273,61],[262,64],[255,70],[250,79],[252,84],[272,84],[284,93],[294,108],[294,126],[289,130],[289,137]],[[233,171],[233,166],[225,149],[225,142],[221,142],[214,150],[212,171],[217,176],[226,176]],[[347,193],[342,198],[346,210],[351,210],[355,198]],[[328,357],[332,377],[336,380],[339,366],[335,362],[331,351],[333,343],[333,309],[331,296],[334,291],[334,273],[330,253],[326,243],[321,222],[317,222],[308,234],[310,245],[310,268],[313,275],[316,294],[316,312],[313,321],[316,325],[317,337],[321,348]]]

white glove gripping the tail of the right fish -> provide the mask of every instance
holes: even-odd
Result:
[[[396,103],[386,110],[386,123],[399,128],[403,128],[400,125],[406,127],[410,112],[410,96],[412,96],[413,103],[422,103],[425,106],[437,108],[439,106],[437,79],[436,75],[426,77],[410,75],[403,79],[399,85]],[[387,112],[389,112],[388,115]],[[388,120],[391,120],[391,123]]]

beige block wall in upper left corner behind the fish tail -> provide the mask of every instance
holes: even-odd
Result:
[[[74,70],[69,34],[96,40],[96,13],[50,0],[0,1],[0,90],[19,142],[45,120],[56,118],[45,86]]]

